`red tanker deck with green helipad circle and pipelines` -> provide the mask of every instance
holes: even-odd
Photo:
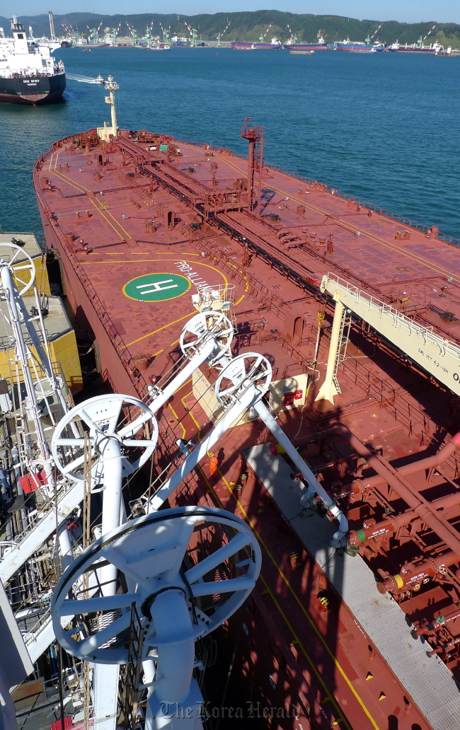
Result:
[[[302,484],[258,420],[218,444],[217,479],[204,465],[175,494],[237,512],[260,539],[261,580],[226,635],[247,699],[297,708],[274,727],[460,728],[459,376],[421,347],[407,356],[352,303],[335,392],[315,400],[340,288],[456,354],[458,242],[265,166],[260,128],[242,136],[249,164],[145,131],[57,142],[34,172],[47,245],[116,392],[148,400],[196,302],[227,299],[233,353],[269,358],[270,407],[348,516],[348,550],[328,551],[333,524],[299,506]],[[163,408],[155,470],[210,429],[214,378],[202,367]]]

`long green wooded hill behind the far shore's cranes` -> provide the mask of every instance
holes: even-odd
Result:
[[[49,35],[47,15],[23,15],[20,22],[27,28],[32,26],[38,37]],[[196,28],[202,40],[215,40],[218,33],[222,33],[227,22],[230,23],[223,40],[258,39],[267,31],[267,40],[276,34],[285,41],[290,36],[288,25],[299,40],[315,41],[321,31],[326,42],[332,43],[349,37],[353,41],[364,41],[367,35],[372,36],[380,25],[379,20],[356,20],[356,18],[342,18],[339,15],[296,15],[292,12],[278,10],[257,10],[256,12],[218,12],[215,15],[161,15],[158,13],[144,13],[142,15],[99,15],[91,12],[72,12],[66,15],[55,15],[55,30],[58,35],[64,34],[62,23],[72,26],[74,31],[88,34],[86,26],[96,28],[102,21],[101,28],[116,28],[122,23],[120,35],[129,33],[126,23],[134,27],[142,36],[145,28],[150,27],[153,20],[153,34],[161,34],[160,23],[164,28],[171,26],[171,34],[188,35],[185,21],[192,28]],[[9,28],[9,20],[0,18],[5,31]],[[432,28],[434,20],[429,23],[396,23],[389,20],[383,23],[375,37],[382,42],[392,43],[399,39],[400,43],[415,43],[418,38],[424,37]],[[9,34],[9,31],[7,31]],[[440,23],[429,40],[438,38],[443,45],[460,47],[460,26],[456,23]],[[429,42],[429,41],[427,41]]]

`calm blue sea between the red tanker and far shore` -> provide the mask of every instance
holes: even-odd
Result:
[[[246,117],[265,126],[265,158],[460,238],[460,58],[285,51],[100,48],[58,50],[63,103],[0,104],[0,226],[42,228],[32,186],[55,140],[110,119],[244,152]]]

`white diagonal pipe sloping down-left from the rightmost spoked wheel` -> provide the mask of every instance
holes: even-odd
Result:
[[[175,491],[175,489],[177,489],[185,477],[190,474],[192,469],[195,469],[195,467],[199,464],[199,461],[206,456],[207,452],[215,445],[215,443],[218,442],[219,439],[221,439],[221,437],[223,437],[223,434],[228,431],[231,424],[234,423],[234,421],[237,420],[237,418],[239,418],[239,416],[253,404],[253,400],[259,395],[260,393],[258,393],[257,389],[253,385],[251,385],[250,388],[242,394],[241,398],[226,412],[225,415],[223,415],[223,418],[216,423],[212,431],[210,431],[207,437],[203,439],[198,446],[196,446],[191,455],[185,459],[183,464],[181,464],[172,477],[170,477],[164,485],[158,489],[158,492],[152,497],[152,499],[150,499],[150,502],[147,504],[147,513],[156,512],[156,510],[160,509],[164,500],[167,499],[169,495]]]

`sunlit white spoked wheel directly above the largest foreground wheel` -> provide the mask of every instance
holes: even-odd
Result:
[[[122,410],[134,410],[134,419],[126,417],[126,423],[118,426]],[[123,419],[124,420],[124,419]],[[139,431],[150,424],[150,438],[137,438]],[[72,426],[77,426],[81,437],[74,437]],[[101,451],[107,439],[117,439],[123,453],[123,477],[132,474],[145,464],[153,453],[158,440],[158,425],[150,408],[133,396],[105,395],[90,398],[69,410],[56,426],[51,440],[51,450],[58,469],[69,479],[83,481],[85,462],[84,431],[88,431],[91,444],[91,480],[94,484],[103,478]],[[139,449],[142,453],[139,456]],[[130,454],[131,453],[131,454]],[[131,456],[132,455],[132,456]],[[129,456],[131,456],[132,461]]]

